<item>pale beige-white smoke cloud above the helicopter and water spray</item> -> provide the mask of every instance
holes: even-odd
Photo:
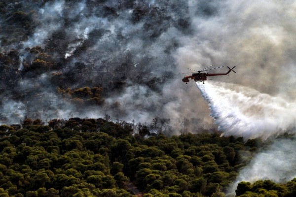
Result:
[[[296,98],[296,80],[289,74],[296,64],[294,1],[189,1],[189,7],[194,33],[181,38],[184,45],[176,53],[182,72],[212,64],[239,66],[232,82]]]

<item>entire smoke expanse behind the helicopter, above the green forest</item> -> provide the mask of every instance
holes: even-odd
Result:
[[[6,56],[16,50],[19,58],[10,65],[0,60],[5,67],[0,97],[22,103],[19,114],[24,116],[46,120],[108,113],[136,122],[159,116],[171,120],[175,134],[209,129],[213,121],[201,94],[174,75],[209,65],[237,66],[237,74],[213,77],[215,81],[288,103],[296,98],[294,2],[57,0],[4,5],[0,50]],[[24,13],[20,17],[17,11]],[[36,59],[47,67],[31,69]],[[57,87],[85,86],[103,87],[105,103],[77,108],[56,92]],[[0,109],[1,117],[8,114],[3,102]],[[0,122],[19,122],[17,117]]]

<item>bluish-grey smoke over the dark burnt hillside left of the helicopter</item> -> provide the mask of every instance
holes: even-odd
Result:
[[[176,52],[193,39],[194,17],[203,15],[190,12],[190,1],[4,1],[2,6],[0,124],[109,114],[136,122],[157,116],[169,120],[174,133],[212,127],[200,94],[174,75],[187,67],[178,65]],[[85,86],[103,87],[104,103],[77,106],[73,100],[81,97],[57,92]]]

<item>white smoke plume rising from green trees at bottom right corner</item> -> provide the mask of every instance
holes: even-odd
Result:
[[[236,181],[229,187],[229,196],[235,195],[239,182],[254,183],[258,180],[271,180],[283,183],[296,177],[295,139],[279,139],[260,152],[252,162],[243,168]]]

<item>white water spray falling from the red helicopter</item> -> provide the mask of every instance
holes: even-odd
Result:
[[[196,83],[224,135],[266,139],[292,131],[296,103],[227,83]]]

